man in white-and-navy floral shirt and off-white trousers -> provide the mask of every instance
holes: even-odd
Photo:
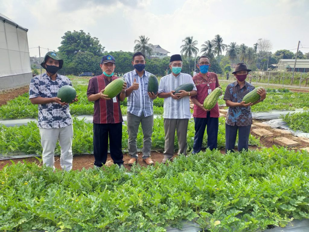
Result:
[[[73,120],[69,110],[71,102],[61,102],[57,92],[64,85],[72,86],[72,82],[66,76],[57,74],[63,66],[63,60],[57,53],[48,52],[41,66],[46,72],[31,79],[29,99],[32,104],[39,106],[38,127],[43,148],[43,164],[55,169],[54,151],[59,140],[60,165],[63,170],[69,171],[73,162]],[[75,98],[74,101],[78,100]]]

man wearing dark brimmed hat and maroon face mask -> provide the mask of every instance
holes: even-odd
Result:
[[[266,91],[262,88],[256,91],[260,95],[259,100],[248,104],[243,101],[243,97],[254,89],[252,84],[245,81],[250,71],[245,63],[238,63],[232,72],[237,80],[229,84],[225,90],[223,99],[229,107],[225,121],[225,152],[234,151],[237,131],[238,151],[248,150],[252,124],[251,106],[266,98]]]

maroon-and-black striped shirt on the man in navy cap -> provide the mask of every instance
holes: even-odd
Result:
[[[99,76],[94,76],[89,80],[87,97],[91,94],[97,94],[102,89],[111,83],[113,80],[118,77],[112,76],[110,80],[102,74]],[[95,101],[95,108],[93,114],[93,123],[119,123],[123,122],[122,114],[120,109],[120,94],[118,94],[114,99],[104,100],[99,98]]]

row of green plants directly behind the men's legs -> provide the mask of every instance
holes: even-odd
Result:
[[[85,154],[93,151],[93,124],[73,118],[73,154]],[[190,120],[188,125],[188,151],[193,148],[194,140],[194,121]],[[152,134],[152,148],[164,150],[164,127],[163,118],[154,119]],[[250,135],[249,144],[260,146],[260,140]],[[137,146],[142,148],[143,135],[142,128],[139,127]],[[207,146],[207,134],[205,133],[203,146]],[[218,148],[225,147],[225,122],[224,118],[219,118]],[[122,149],[128,148],[128,131],[126,125],[122,126]],[[175,136],[175,149],[178,149],[178,141]],[[29,122],[27,125],[6,127],[0,124],[0,154],[14,152],[23,152],[26,154],[42,154],[40,143],[40,132],[35,122]],[[60,147],[57,144],[56,154],[60,154]]]

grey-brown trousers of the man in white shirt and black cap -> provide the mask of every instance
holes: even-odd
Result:
[[[188,118],[183,119],[170,119],[164,118],[164,157],[171,158],[174,156],[174,142],[175,130],[177,131],[177,138],[179,144],[178,154],[187,155],[187,131],[188,131]]]

